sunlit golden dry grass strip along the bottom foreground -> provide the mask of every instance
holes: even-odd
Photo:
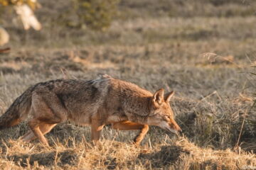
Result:
[[[58,138],[57,138],[58,139]],[[101,145],[70,137],[52,147],[9,140],[2,147],[1,169],[245,169],[256,166],[255,154],[197,147],[184,137],[143,147],[114,140]],[[9,145],[9,146],[8,146]],[[68,146],[68,147],[67,147]]]

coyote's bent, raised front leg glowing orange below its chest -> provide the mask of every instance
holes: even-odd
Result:
[[[139,123],[132,123],[129,121],[114,123],[112,125],[112,128],[117,130],[141,130],[139,135],[137,135],[137,137],[134,138],[135,145],[139,145],[140,142],[142,142],[144,136],[146,135],[146,132],[149,131],[149,125],[142,125]]]

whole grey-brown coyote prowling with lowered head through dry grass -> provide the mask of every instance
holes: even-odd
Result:
[[[21,139],[30,142],[43,136],[58,123],[67,120],[77,125],[91,125],[94,142],[100,139],[104,125],[117,130],[140,130],[134,144],[143,140],[149,125],[177,134],[181,128],[174,120],[169,104],[174,91],[153,94],[139,86],[103,75],[99,79],[56,79],[38,83],[16,98],[0,117],[0,130],[28,120],[31,128]]]

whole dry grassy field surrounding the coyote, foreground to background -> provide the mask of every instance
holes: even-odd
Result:
[[[63,123],[43,147],[18,140],[21,123],[0,132],[0,169],[256,169],[255,1],[122,0],[103,32],[64,26],[69,1],[40,2],[40,32],[1,14],[11,52],[0,55],[0,114],[37,82],[110,74],[176,91],[183,133],[151,127],[135,147],[136,131],[106,126],[93,146],[89,127]]]

